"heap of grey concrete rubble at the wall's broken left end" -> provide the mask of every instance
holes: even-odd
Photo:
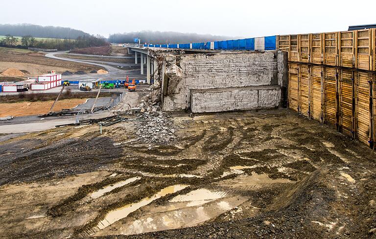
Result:
[[[142,108],[143,109],[143,108]],[[175,139],[175,129],[170,117],[160,111],[159,106],[149,106],[139,115],[136,135],[139,140],[147,143],[168,143]]]

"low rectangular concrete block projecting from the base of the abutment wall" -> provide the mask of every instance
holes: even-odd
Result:
[[[192,113],[256,110],[278,107],[280,86],[248,86],[191,90]]]

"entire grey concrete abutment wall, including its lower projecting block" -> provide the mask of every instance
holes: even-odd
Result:
[[[283,51],[168,55],[164,61],[164,111],[193,113],[284,105],[287,54]]]

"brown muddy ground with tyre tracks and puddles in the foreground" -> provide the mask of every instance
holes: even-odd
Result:
[[[137,118],[0,142],[1,238],[376,238],[375,153],[289,110]],[[169,230],[171,229],[171,230]]]

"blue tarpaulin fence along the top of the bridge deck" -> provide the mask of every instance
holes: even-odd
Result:
[[[276,36],[264,37],[265,50],[275,50],[276,49]],[[186,43],[179,44],[180,49],[211,49],[211,42],[201,42],[201,43]],[[164,45],[143,45],[163,47],[167,48],[167,44]],[[178,48],[177,44],[170,44],[168,48]],[[217,41],[214,42],[214,49],[223,49],[223,50],[255,50],[255,38],[246,38],[246,39],[237,39],[237,40],[227,40],[227,41]]]

